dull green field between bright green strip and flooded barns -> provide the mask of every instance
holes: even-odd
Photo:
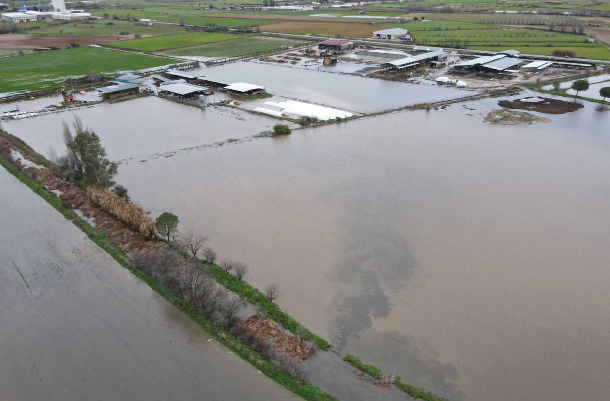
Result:
[[[168,55],[201,55],[206,57],[230,57],[232,55],[262,52],[281,48],[282,46],[295,46],[304,41],[284,40],[279,38],[248,37],[242,39],[225,40],[215,43],[190,46],[188,48],[165,51]]]

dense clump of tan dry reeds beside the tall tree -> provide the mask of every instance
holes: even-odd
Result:
[[[87,188],[87,194],[96,205],[117,217],[132,229],[138,230],[143,236],[151,240],[155,238],[154,221],[146,216],[140,205],[126,202],[122,197],[110,191],[93,186]]]

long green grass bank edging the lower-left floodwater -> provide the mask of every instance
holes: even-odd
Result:
[[[6,133],[0,131],[0,135],[6,137],[12,137],[12,135],[7,136]],[[15,138],[15,137],[12,137]],[[23,143],[23,141],[20,141]],[[27,146],[27,145],[26,145]],[[29,146],[28,146],[29,147]],[[30,148],[31,149],[31,148]],[[35,153],[35,152],[34,152]],[[38,157],[44,159],[41,155],[37,154]],[[46,160],[46,159],[45,159]],[[46,164],[50,163],[48,160]],[[38,194],[40,197],[46,200],[48,204],[54,207],[59,213],[61,213],[66,219],[73,222],[74,225],[79,227],[88,238],[91,239],[94,243],[96,243],[99,247],[106,250],[110,256],[114,260],[116,260],[121,266],[128,269],[132,274],[138,277],[140,280],[149,285],[154,291],[160,294],[162,297],[168,300],[174,307],[176,307],[179,311],[186,314],[190,319],[196,322],[199,326],[201,326],[207,333],[212,335],[218,342],[221,342],[226,347],[228,347],[232,352],[235,352],[239,355],[243,360],[252,366],[259,369],[260,372],[267,375],[273,380],[277,381],[279,384],[294,392],[298,396],[303,397],[305,400],[310,401],[338,401],[338,399],[334,396],[331,396],[327,392],[318,388],[318,386],[313,385],[309,382],[299,381],[286,372],[279,369],[279,367],[270,363],[266,360],[262,355],[254,351],[253,349],[245,346],[238,339],[233,338],[229,333],[224,331],[222,328],[213,324],[207,318],[195,310],[194,308],[189,307],[182,300],[174,297],[167,288],[165,288],[162,283],[159,282],[156,277],[152,275],[146,274],[145,272],[140,271],[135,268],[131,264],[129,260],[129,256],[121,249],[117,244],[113,243],[112,240],[106,235],[106,233],[101,232],[92,225],[90,225],[87,221],[80,218],[74,210],[69,207],[66,207],[64,202],[59,199],[55,194],[46,190],[44,186],[38,183],[35,179],[27,177],[23,172],[19,171],[10,161],[6,160],[2,155],[0,155],[0,165],[2,165],[10,174],[13,174],[18,180],[27,185],[34,193]],[[224,339],[221,338],[220,334],[223,333]],[[254,360],[250,359],[250,355],[253,355]],[[259,365],[256,363],[256,360],[262,360],[264,363]]]

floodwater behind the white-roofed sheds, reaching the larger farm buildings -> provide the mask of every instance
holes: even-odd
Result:
[[[350,66],[351,63],[346,65]],[[354,71],[365,66],[354,64]],[[244,71],[248,73],[244,75]],[[255,83],[263,85],[268,93],[274,95],[360,113],[381,112],[478,93],[473,90],[310,71],[260,62],[238,62],[199,68],[192,73],[228,82]]]

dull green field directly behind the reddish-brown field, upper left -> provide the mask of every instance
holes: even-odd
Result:
[[[109,24],[110,23],[110,24]],[[37,24],[37,23],[34,23]],[[90,35],[167,35],[185,32],[183,26],[156,24],[142,26],[132,21],[95,20],[57,23],[57,21],[38,21],[37,27],[27,29],[28,34],[90,34]]]

